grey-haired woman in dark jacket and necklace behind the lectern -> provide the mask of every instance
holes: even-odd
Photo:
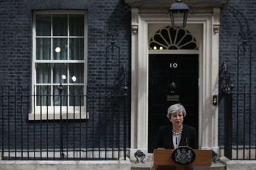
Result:
[[[185,108],[180,104],[168,108],[166,116],[171,125],[160,127],[156,148],[175,149],[179,146],[188,146],[198,149],[196,129],[183,124],[186,114]]]

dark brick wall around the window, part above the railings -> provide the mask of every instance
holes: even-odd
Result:
[[[33,10],[88,10],[88,83],[104,77],[108,32],[114,26],[121,64],[129,67],[130,19],[123,1],[1,1],[1,85],[31,84]],[[126,13],[127,12],[127,13]]]

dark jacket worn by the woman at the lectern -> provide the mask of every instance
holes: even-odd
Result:
[[[179,146],[188,146],[192,149],[198,149],[198,139],[196,135],[196,129],[194,127],[183,124],[182,136],[179,142]],[[174,149],[174,143],[172,140],[172,124],[159,128],[155,148],[158,147]]]

